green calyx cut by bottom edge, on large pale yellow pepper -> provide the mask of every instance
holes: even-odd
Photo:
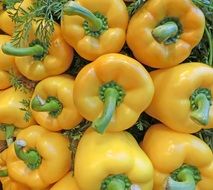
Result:
[[[132,183],[124,174],[109,175],[101,183],[101,190],[129,190]]]

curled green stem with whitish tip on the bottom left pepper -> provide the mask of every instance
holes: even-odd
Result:
[[[28,151],[24,151],[23,148],[26,147],[26,142],[24,140],[16,140],[14,143],[14,149],[16,156],[23,160],[25,164],[31,170],[39,168],[41,165],[41,156],[34,149],[29,149]]]

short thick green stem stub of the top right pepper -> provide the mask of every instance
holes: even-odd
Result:
[[[153,29],[152,35],[159,43],[165,42],[169,38],[178,34],[178,25],[173,21],[168,21]]]

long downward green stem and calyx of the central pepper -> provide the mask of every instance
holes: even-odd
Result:
[[[114,81],[103,84],[99,89],[99,97],[104,102],[104,110],[101,117],[97,118],[92,126],[98,132],[103,134],[118,106],[124,99],[125,92],[123,88]]]

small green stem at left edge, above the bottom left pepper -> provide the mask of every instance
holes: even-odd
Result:
[[[0,129],[5,132],[5,140],[7,142],[7,146],[13,143],[15,126],[13,124],[1,124]]]

